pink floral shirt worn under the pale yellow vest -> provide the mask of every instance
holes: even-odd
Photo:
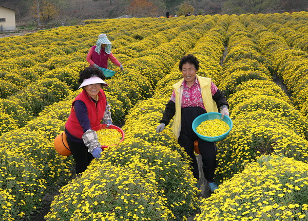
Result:
[[[200,88],[200,84],[198,82],[197,77],[196,77],[195,84],[192,85],[190,88],[187,87],[186,81],[183,81],[182,86],[184,87],[183,94],[182,94],[182,108],[202,107],[205,110],[202,96],[201,96],[201,88]],[[216,85],[213,82],[211,82],[210,84],[211,95],[214,96],[217,90],[218,88],[216,87]],[[176,102],[175,90],[172,92],[170,100],[172,102]]]

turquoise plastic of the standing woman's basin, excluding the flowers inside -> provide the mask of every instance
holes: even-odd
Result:
[[[223,117],[223,121],[227,123],[227,125],[230,127],[229,130],[227,132],[225,132],[222,135],[219,136],[203,136],[200,133],[197,132],[196,128],[205,120],[208,119],[221,119],[221,113],[204,113],[201,114],[200,116],[196,117],[194,119],[194,121],[192,122],[192,130],[194,130],[194,132],[197,134],[197,136],[206,141],[206,142],[217,142],[219,140],[222,140],[224,138],[227,137],[227,135],[229,134],[229,132],[231,131],[232,127],[233,127],[233,122],[232,119],[228,116],[224,116]]]

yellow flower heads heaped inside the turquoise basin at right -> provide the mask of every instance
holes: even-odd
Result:
[[[220,136],[229,129],[228,124],[221,119],[205,120],[196,128],[197,132],[203,136]]]

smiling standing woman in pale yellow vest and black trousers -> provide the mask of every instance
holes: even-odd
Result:
[[[229,116],[228,103],[221,90],[219,90],[210,78],[197,75],[199,69],[198,59],[191,54],[182,57],[179,69],[183,79],[176,83],[171,98],[166,105],[160,125],[156,131],[161,132],[169,124],[172,117],[174,123],[172,131],[178,138],[178,143],[192,159],[192,173],[199,180],[199,169],[194,153],[194,141],[198,140],[199,151],[202,156],[202,169],[204,177],[212,192],[218,189],[214,182],[216,169],[216,145],[200,139],[192,130],[194,119],[204,113],[218,112],[218,108],[224,115]]]

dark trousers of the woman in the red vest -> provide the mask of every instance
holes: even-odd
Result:
[[[77,143],[67,137],[67,144],[75,159],[76,174],[84,172],[90,165],[93,155],[88,152],[88,148],[84,143]]]

